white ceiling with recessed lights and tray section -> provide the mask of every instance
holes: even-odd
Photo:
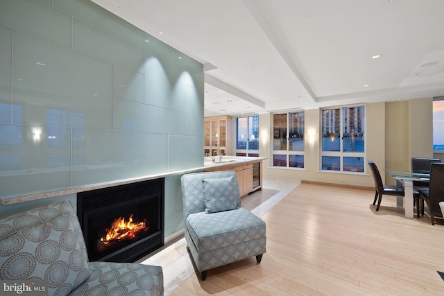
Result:
[[[204,64],[205,116],[444,95],[444,0],[92,1]]]

